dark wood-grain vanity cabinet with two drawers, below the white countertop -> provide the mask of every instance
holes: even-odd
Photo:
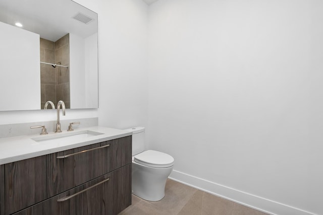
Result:
[[[3,165],[1,215],[119,213],[131,204],[131,138]]]

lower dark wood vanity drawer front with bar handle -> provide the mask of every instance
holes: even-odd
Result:
[[[125,192],[119,193],[120,191]],[[119,194],[117,195],[117,193]],[[114,215],[130,204],[131,164],[128,164],[116,171],[21,210],[15,215]]]

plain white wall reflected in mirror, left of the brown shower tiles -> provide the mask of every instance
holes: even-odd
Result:
[[[0,32],[0,110],[40,109],[39,34],[3,22]]]

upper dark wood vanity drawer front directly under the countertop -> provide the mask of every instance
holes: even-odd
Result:
[[[131,136],[5,165],[6,215],[131,163]]]

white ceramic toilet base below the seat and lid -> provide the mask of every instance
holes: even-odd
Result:
[[[148,167],[132,162],[132,193],[148,201],[159,201],[165,196],[165,186],[173,166]]]

